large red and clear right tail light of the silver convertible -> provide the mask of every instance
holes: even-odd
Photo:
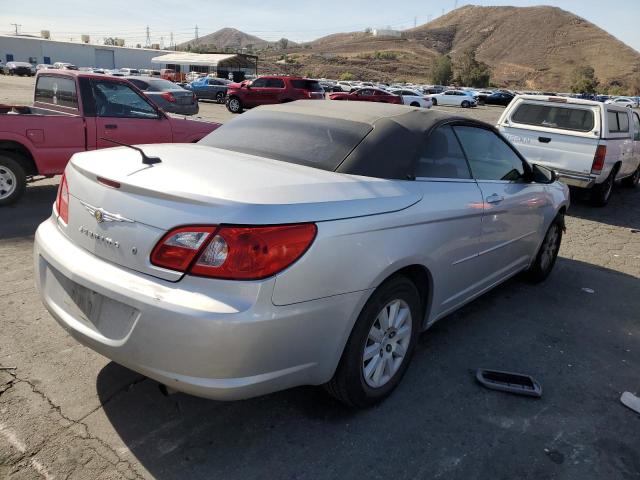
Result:
[[[313,223],[268,227],[182,227],[151,254],[154,265],[193,275],[260,280],[281,272],[311,246]]]

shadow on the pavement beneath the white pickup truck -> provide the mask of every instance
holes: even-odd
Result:
[[[568,215],[638,230],[640,229],[640,188],[630,189],[617,185],[611,194],[609,204],[605,207],[592,206],[585,192],[572,190]]]

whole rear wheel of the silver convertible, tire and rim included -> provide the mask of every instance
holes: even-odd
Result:
[[[420,312],[420,295],[408,278],[397,276],[378,287],[360,312],[327,391],[353,407],[386,398],[409,366]]]

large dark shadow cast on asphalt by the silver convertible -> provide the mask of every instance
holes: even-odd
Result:
[[[103,428],[162,480],[631,478],[640,417],[619,397],[640,393],[638,298],[637,278],[560,258],[545,283],[511,280],[424,333],[399,388],[362,411],[318,387],[164,397],[110,363]],[[477,368],[530,374],[543,397],[483,389]]]

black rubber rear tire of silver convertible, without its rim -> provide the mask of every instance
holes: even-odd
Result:
[[[405,355],[398,366],[398,369],[393,373],[385,384],[379,388],[370,386],[364,378],[363,369],[365,368],[364,353],[369,341],[369,333],[378,321],[377,317],[383,309],[393,302],[394,300],[401,300],[406,306],[408,306],[411,312],[411,332],[408,338],[408,345],[405,349]],[[408,278],[398,275],[387,280],[380,285],[373,293],[371,298],[367,301],[365,306],[358,316],[347,345],[342,352],[342,357],[338,368],[333,378],[325,385],[326,390],[340,402],[351,407],[368,407],[384,400],[396,386],[402,380],[409,363],[411,362],[411,356],[415,348],[416,340],[419,335],[422,309],[420,307],[420,295],[416,286]],[[380,326],[382,330],[382,325]],[[389,355],[393,359],[393,353],[388,350],[388,344],[385,342],[388,339],[392,339],[394,333],[385,333],[384,351],[389,352]],[[400,338],[398,335],[397,338]],[[397,341],[397,339],[396,339]],[[370,345],[371,346],[371,345]],[[375,347],[374,347],[375,348]],[[369,360],[373,362],[381,362],[378,359],[383,357],[383,347],[380,347],[380,354],[375,354],[374,357]],[[404,347],[403,347],[404,348]],[[384,363],[384,362],[383,362]],[[387,364],[388,365],[388,364]],[[386,367],[383,366],[383,374]]]

